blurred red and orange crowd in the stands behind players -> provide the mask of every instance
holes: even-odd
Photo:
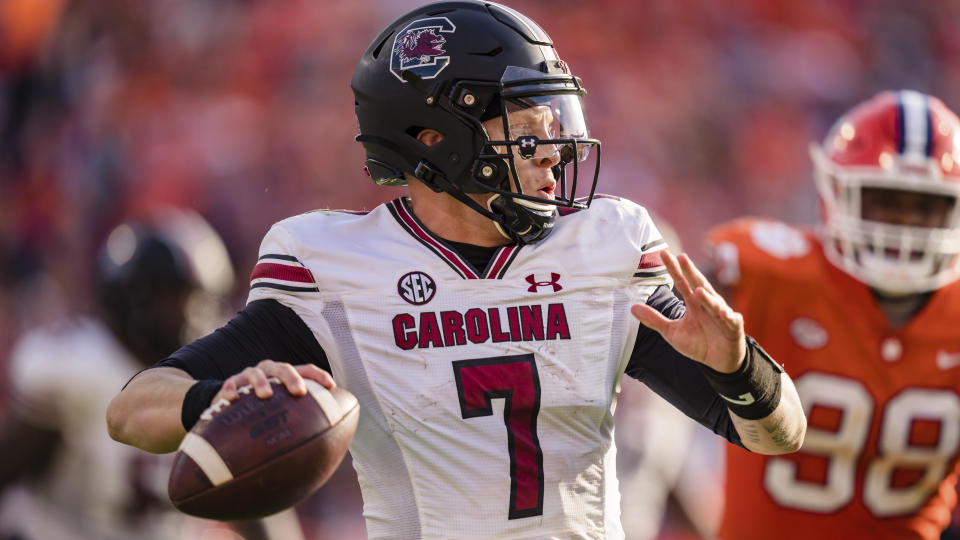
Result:
[[[0,1],[0,367],[25,327],[89,305],[120,215],[196,209],[239,306],[271,223],[403,193],[361,170],[349,82],[419,3]],[[505,3],[583,78],[599,190],[654,210],[695,258],[734,216],[814,223],[807,146],[853,103],[912,88],[960,107],[955,0]]]

